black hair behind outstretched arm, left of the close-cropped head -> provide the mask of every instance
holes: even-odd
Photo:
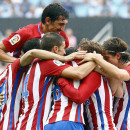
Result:
[[[23,45],[23,52],[26,53],[31,49],[41,49],[41,38],[31,38],[26,41]]]

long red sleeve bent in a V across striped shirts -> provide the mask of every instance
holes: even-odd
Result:
[[[79,89],[75,89],[73,85],[64,78],[58,80],[58,85],[61,87],[63,94],[77,104],[85,102],[95,90],[100,87],[100,84],[101,75],[96,72],[91,72],[86,78],[84,78]]]

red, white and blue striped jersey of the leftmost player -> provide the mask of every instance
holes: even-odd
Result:
[[[14,129],[20,114],[22,79],[25,68],[20,68],[20,60],[8,65],[0,75],[0,93],[4,92],[1,106],[0,129]]]

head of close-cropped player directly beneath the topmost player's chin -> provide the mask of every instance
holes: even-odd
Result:
[[[55,32],[46,33],[41,40],[41,45],[43,50],[59,55],[65,54],[65,39]]]

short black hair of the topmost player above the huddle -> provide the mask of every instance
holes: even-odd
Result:
[[[63,16],[65,19],[69,18],[69,13],[59,3],[49,4],[42,12],[41,22],[45,24],[45,18],[49,17],[52,22]]]

